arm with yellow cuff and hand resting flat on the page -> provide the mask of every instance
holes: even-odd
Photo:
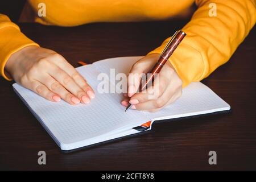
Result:
[[[89,104],[90,99],[94,98],[93,89],[63,56],[39,47],[2,14],[0,68],[1,75],[7,80],[11,76],[20,85],[49,101],[59,102],[62,98],[76,105],[80,102]]]

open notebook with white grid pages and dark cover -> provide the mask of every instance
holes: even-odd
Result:
[[[61,150],[65,151],[150,130],[156,120],[230,109],[207,86],[201,82],[192,82],[183,89],[179,100],[156,113],[131,109],[125,113],[125,107],[120,104],[122,94],[97,92],[97,86],[102,81],[97,80],[97,76],[99,73],[110,75],[110,68],[115,68],[115,73],[129,73],[139,58],[117,57],[77,68],[96,92],[96,98],[88,105],[72,106],[62,100],[55,103],[19,84],[15,83],[13,87]],[[110,86],[113,85],[110,81]]]

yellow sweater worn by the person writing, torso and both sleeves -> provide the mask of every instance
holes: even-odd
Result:
[[[162,20],[181,13],[194,0],[30,0],[20,20],[46,25],[77,26],[90,22]],[[46,5],[46,16],[39,17],[39,3]],[[214,4],[213,4],[214,3]],[[196,0],[198,9],[183,27],[187,36],[171,56],[183,86],[200,81],[232,56],[256,21],[255,0]],[[216,5],[216,16],[212,16]],[[172,31],[171,31],[172,32]],[[170,33],[171,33],[170,32]],[[160,53],[164,43],[150,53]],[[0,71],[19,49],[36,45],[19,27],[0,14]]]

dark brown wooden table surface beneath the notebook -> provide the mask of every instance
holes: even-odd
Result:
[[[117,56],[146,55],[186,20],[97,23],[63,28],[19,24],[29,38],[63,55],[73,66]],[[162,27],[162,28],[158,28]],[[0,169],[256,169],[255,28],[230,61],[203,80],[232,113],[155,123],[138,137],[63,154],[0,78]],[[39,166],[38,151],[47,154]],[[217,165],[208,152],[217,152]]]

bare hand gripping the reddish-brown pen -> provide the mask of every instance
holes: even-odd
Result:
[[[139,73],[140,75],[150,72],[159,56],[159,54],[151,54],[143,57],[133,65],[130,73]],[[133,104],[131,109],[155,112],[175,102],[181,96],[182,81],[169,61],[164,64],[158,76],[159,80],[147,88],[146,93],[136,93],[141,78],[129,74],[128,94],[124,94],[125,98],[121,104],[127,106],[130,100],[130,104]]]

